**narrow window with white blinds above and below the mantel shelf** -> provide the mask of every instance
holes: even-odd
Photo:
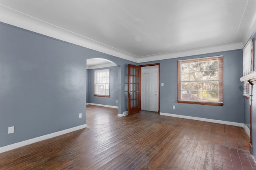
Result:
[[[243,49],[243,76],[253,72],[253,39],[250,39]],[[244,96],[250,96],[250,84],[244,82]]]

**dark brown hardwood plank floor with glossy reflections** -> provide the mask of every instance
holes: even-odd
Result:
[[[148,111],[117,114],[118,109],[87,105],[87,128],[1,153],[0,169],[228,169],[220,163],[222,148],[226,154],[242,150],[250,160],[241,164],[255,166],[242,127]]]

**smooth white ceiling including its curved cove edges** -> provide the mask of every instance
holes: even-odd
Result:
[[[0,0],[0,21],[137,63],[242,49],[256,0]]]

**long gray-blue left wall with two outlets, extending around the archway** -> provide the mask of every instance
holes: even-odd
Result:
[[[122,114],[126,67],[136,63],[0,23],[0,147],[86,124],[90,58],[119,66]],[[8,134],[10,126],[14,133]]]

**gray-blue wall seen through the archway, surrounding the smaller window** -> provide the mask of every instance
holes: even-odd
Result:
[[[110,69],[110,97],[94,96],[94,70]],[[90,69],[88,71],[88,100],[87,103],[118,106],[118,66]]]

